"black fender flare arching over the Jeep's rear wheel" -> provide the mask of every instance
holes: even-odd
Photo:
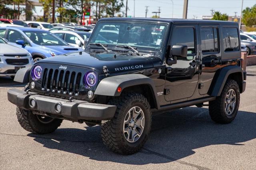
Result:
[[[211,96],[220,96],[222,89],[228,79],[228,76],[232,73],[241,73],[241,76],[238,77],[239,81],[243,83],[244,81],[244,74],[241,67],[237,65],[230,65],[223,67],[220,69],[214,76],[214,79],[212,81],[210,95]]]

